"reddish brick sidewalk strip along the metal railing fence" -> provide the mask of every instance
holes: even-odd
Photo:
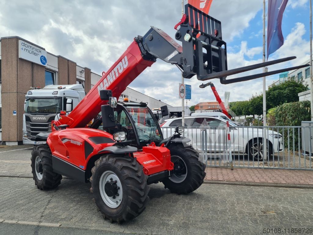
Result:
[[[313,185],[311,170],[207,167],[206,180]]]

